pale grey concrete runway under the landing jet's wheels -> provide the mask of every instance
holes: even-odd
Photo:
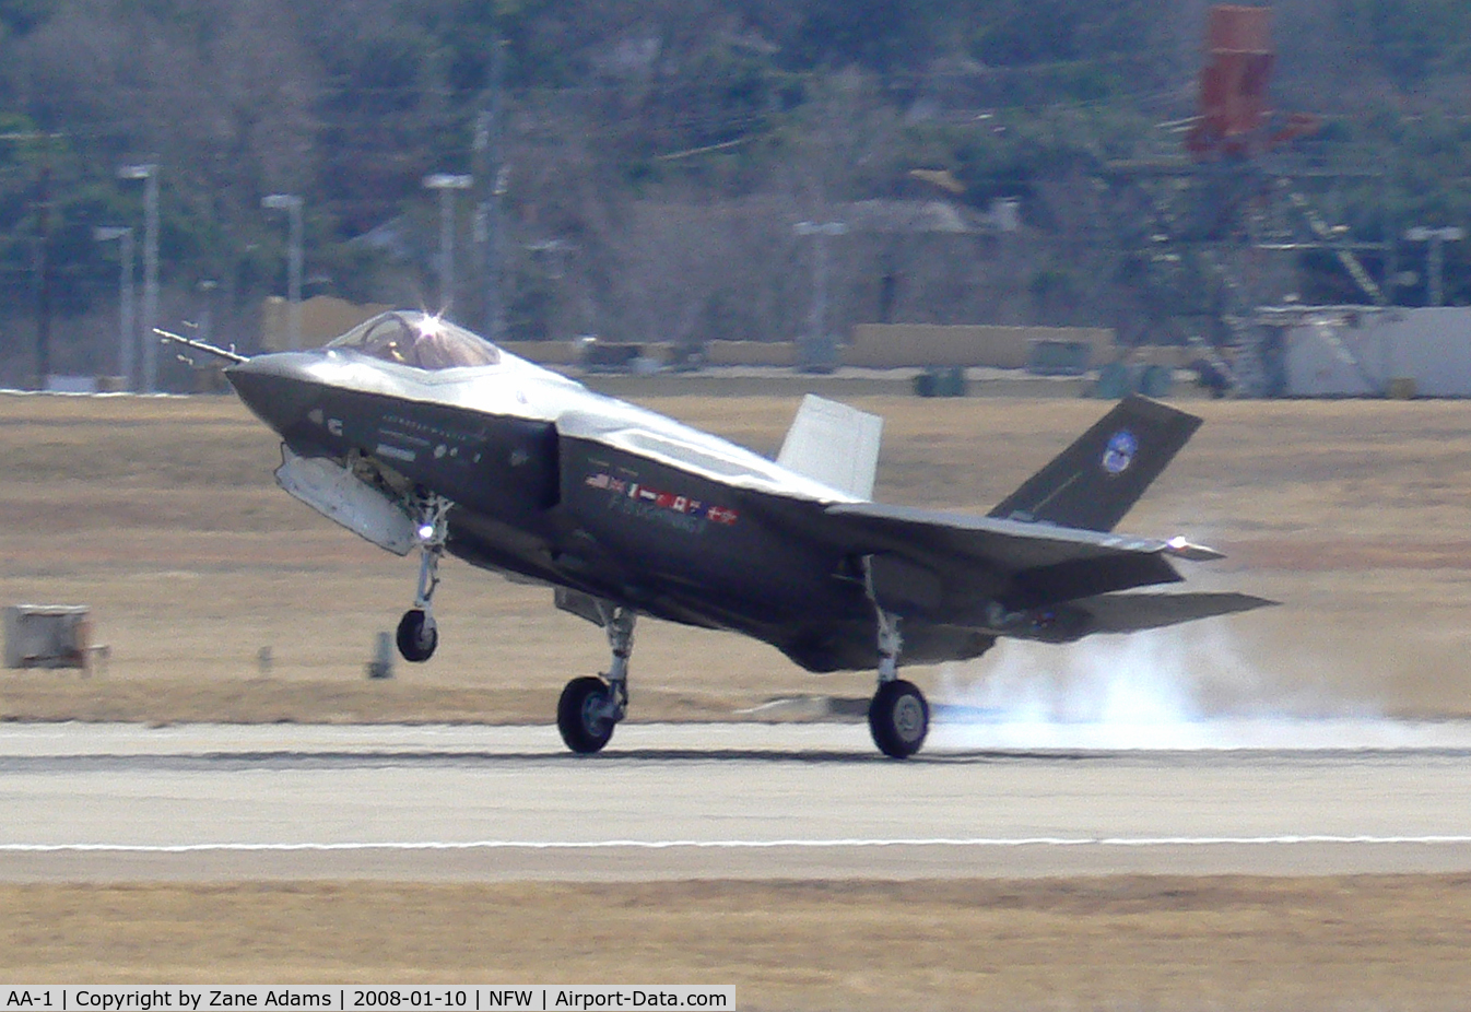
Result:
[[[1464,724],[978,734],[893,762],[856,724],[633,724],[600,756],[549,727],[9,725],[0,880],[1471,871]]]

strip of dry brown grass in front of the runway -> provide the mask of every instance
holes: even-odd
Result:
[[[1471,878],[0,887],[54,983],[734,984],[741,1009],[1453,1009]]]

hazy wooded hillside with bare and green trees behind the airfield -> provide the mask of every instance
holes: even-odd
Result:
[[[246,347],[259,300],[285,287],[269,193],[304,197],[307,294],[434,304],[430,172],[477,177],[457,203],[453,312],[488,325],[488,246],[512,338],[790,338],[809,327],[813,247],[793,224],[837,218],[853,219],[828,243],[838,332],[890,319],[1178,337],[1152,332],[1178,307],[1152,306],[1121,254],[1133,219],[1103,168],[1178,154],[1178,129],[1161,125],[1194,112],[1205,10],[0,0],[0,372],[28,360],[43,232],[57,371],[110,368],[118,244],[93,228],[141,232],[143,187],[116,168],[144,160],[160,166],[162,321],[209,315]],[[1464,224],[1471,7],[1274,10],[1275,104],[1322,118],[1297,153],[1384,172],[1333,197],[1334,224],[1370,238]],[[1021,231],[994,228],[997,199],[1019,202]],[[955,216],[916,225],[865,203],[884,200],[940,200]],[[477,222],[480,204],[494,213]],[[1447,247],[1449,302],[1471,300],[1467,246]],[[1368,266],[1422,265],[1422,246],[1397,247]],[[1331,257],[1293,271],[1284,284],[1303,297],[1362,297]],[[1400,277],[1397,302],[1425,300],[1420,274]]]

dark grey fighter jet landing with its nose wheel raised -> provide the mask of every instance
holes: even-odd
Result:
[[[924,744],[930,708],[900,659],[1268,603],[1137,590],[1178,581],[1175,559],[1219,557],[1111,532],[1200,424],[1143,397],[978,516],[871,502],[880,419],[818,397],[769,460],[427,313],[250,359],[166,337],[231,359],[225,375],[281,434],[282,488],[390,552],[418,552],[397,632],[407,660],[428,660],[438,641],[446,552],[544,584],[558,607],[605,630],[608,672],[574,678],[558,705],[574,752],[602,749],[628,712],[640,615],[744,632],[809,671],[877,668],[874,741],[905,758]]]

